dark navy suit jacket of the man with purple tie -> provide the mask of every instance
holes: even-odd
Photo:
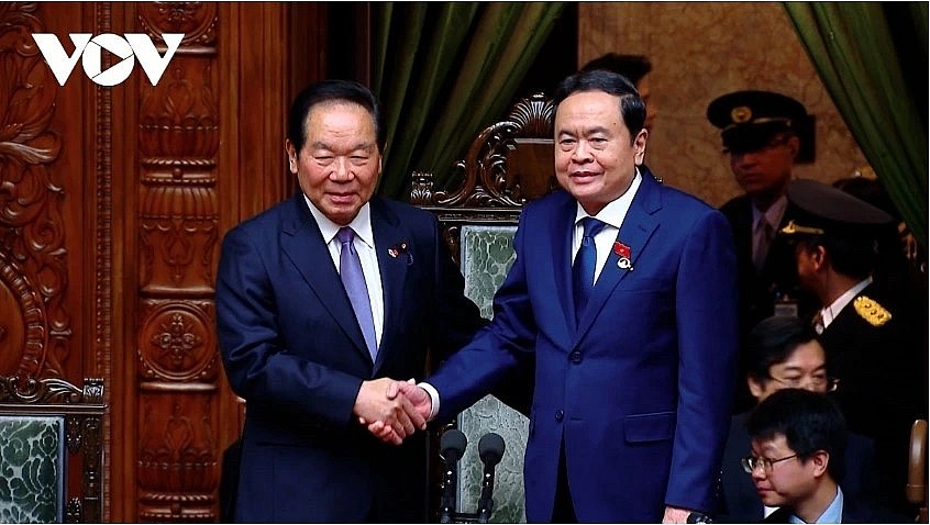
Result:
[[[224,237],[219,340],[247,401],[236,521],[425,520],[423,434],[381,444],[352,416],[355,398],[366,379],[422,378],[428,348],[442,356],[485,323],[434,215],[370,208],[385,302],[377,362],[301,193]]]

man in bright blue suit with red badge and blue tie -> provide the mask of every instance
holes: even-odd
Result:
[[[524,208],[489,328],[403,393],[445,421],[532,353],[528,521],[685,523],[712,510],[730,420],[732,234],[642,168],[624,77],[573,75],[554,102],[564,190]]]

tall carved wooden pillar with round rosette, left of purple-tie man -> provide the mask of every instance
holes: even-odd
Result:
[[[140,82],[137,333],[143,521],[215,520],[213,267],[219,238],[217,5],[140,4],[154,38],[185,33],[157,86]]]

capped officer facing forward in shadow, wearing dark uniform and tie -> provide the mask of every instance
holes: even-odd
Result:
[[[708,120],[721,130],[723,150],[743,194],[720,211],[733,228],[740,287],[740,336],[775,314],[807,317],[813,299],[797,282],[794,258],[777,232],[796,210],[785,197],[796,161],[812,147],[810,118],[797,100],[770,91],[735,91],[713,100]],[[734,410],[755,404],[745,390],[741,355]]]

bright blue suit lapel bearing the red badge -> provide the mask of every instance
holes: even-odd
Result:
[[[597,312],[604,309],[605,303],[613,293],[613,289],[635,270],[640,255],[658,226],[658,220],[655,216],[655,212],[662,208],[658,190],[658,182],[649,174],[643,174],[642,183],[635,197],[633,197],[633,202],[630,204],[630,210],[627,211],[623,225],[620,227],[616,239],[616,243],[621,243],[630,248],[631,268],[623,269],[618,266],[620,256],[611,247],[604,269],[591,290],[591,298],[588,300],[578,323],[578,338],[588,331],[597,316]]]

